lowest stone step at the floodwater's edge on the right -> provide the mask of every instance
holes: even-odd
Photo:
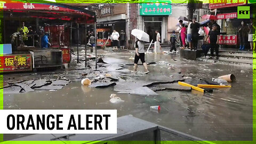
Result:
[[[252,61],[241,61],[241,60],[227,60],[223,58],[219,58],[219,60],[216,59],[205,59],[204,57],[198,58],[197,60],[205,61],[205,62],[211,62],[211,63],[220,63],[220,64],[226,64],[226,65],[235,65],[235,66],[243,66],[243,67],[252,67],[253,62]]]

